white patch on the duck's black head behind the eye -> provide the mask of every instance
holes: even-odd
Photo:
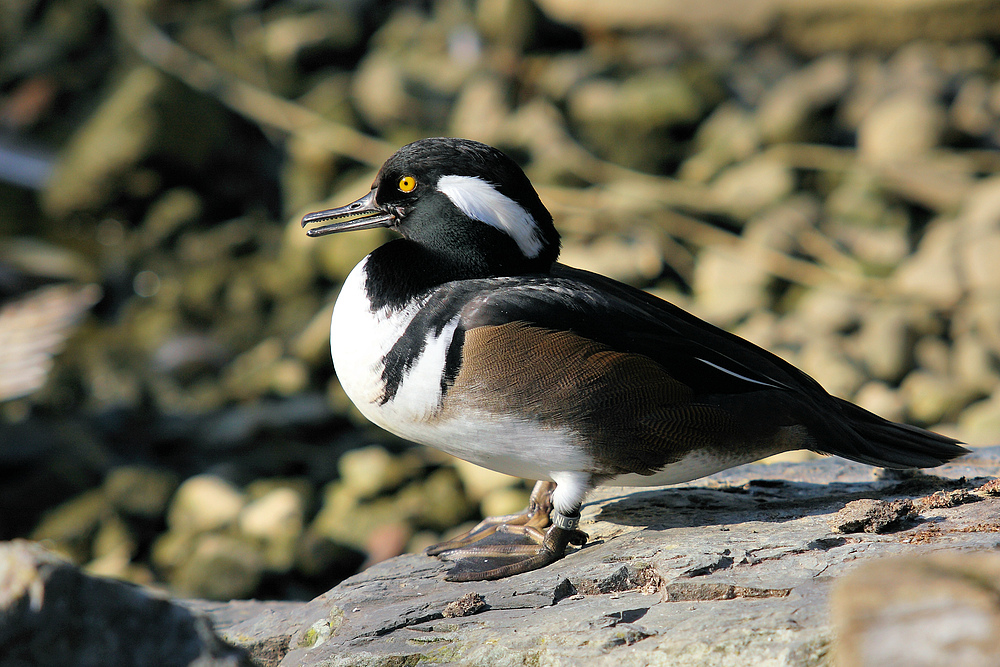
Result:
[[[525,257],[537,257],[542,251],[542,232],[535,218],[478,176],[442,176],[438,190],[470,218],[506,232]]]

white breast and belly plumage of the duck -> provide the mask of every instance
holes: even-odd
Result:
[[[440,449],[492,470],[550,479],[553,473],[587,470],[590,458],[566,429],[477,410],[442,417],[441,377],[458,318],[428,339],[391,400],[382,403],[383,359],[428,299],[405,308],[372,311],[365,291],[365,263],[351,271],[337,298],[330,347],[337,378],[351,401],[374,424],[402,438]]]

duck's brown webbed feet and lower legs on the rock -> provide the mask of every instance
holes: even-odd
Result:
[[[523,512],[484,519],[464,535],[434,545],[426,553],[455,562],[445,575],[449,581],[501,579],[559,560],[569,544],[583,546],[587,535],[577,529],[579,506],[568,515],[553,509],[555,488],[554,482],[538,482]]]

